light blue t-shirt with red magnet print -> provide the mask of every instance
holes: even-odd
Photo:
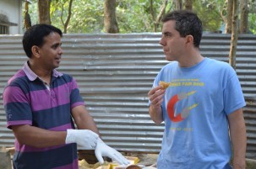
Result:
[[[165,131],[157,167],[229,168],[227,115],[245,106],[236,71],[210,58],[188,68],[174,61],[161,69],[153,86],[159,81],[170,87],[161,105]]]

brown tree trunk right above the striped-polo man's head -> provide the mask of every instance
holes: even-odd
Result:
[[[38,0],[39,24],[51,24],[50,7],[52,0]]]

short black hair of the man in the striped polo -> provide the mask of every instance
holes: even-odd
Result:
[[[35,24],[30,29],[26,30],[22,40],[26,55],[31,58],[32,46],[36,45],[41,47],[45,43],[44,38],[53,32],[63,37],[63,32],[50,24]]]

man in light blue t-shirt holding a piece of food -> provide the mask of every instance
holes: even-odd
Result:
[[[200,55],[202,23],[189,11],[162,19],[167,61],[148,93],[155,124],[165,123],[157,168],[245,168],[245,101],[236,71]],[[161,85],[164,82],[166,85]],[[164,88],[166,87],[166,88]]]

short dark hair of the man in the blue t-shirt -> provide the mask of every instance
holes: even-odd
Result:
[[[182,37],[189,34],[192,35],[193,45],[199,48],[203,34],[203,25],[196,13],[193,13],[190,10],[176,10],[171,13],[167,13],[161,19],[163,23],[169,20],[176,21],[175,29]]]

